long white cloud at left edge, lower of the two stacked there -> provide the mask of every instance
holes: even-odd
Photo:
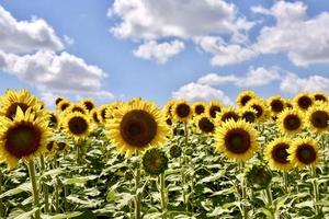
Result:
[[[100,92],[106,77],[102,69],[66,51],[39,50],[24,56],[0,51],[0,60],[4,64],[0,68],[42,91]]]

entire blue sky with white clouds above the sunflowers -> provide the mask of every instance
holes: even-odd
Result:
[[[2,0],[0,92],[231,104],[329,92],[329,1]]]

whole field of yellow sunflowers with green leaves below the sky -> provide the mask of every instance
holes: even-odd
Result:
[[[329,218],[329,97],[0,96],[0,218]]]

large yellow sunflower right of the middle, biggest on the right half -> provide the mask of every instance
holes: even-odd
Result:
[[[216,149],[228,159],[247,161],[258,150],[257,136],[249,123],[230,119],[216,128]]]

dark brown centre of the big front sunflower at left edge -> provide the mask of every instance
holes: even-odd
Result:
[[[41,147],[41,135],[33,124],[22,122],[8,130],[4,147],[15,158],[26,157]]]

